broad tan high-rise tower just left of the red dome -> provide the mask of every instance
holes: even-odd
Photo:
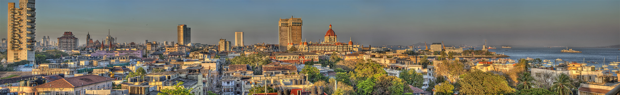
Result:
[[[280,51],[286,51],[286,44],[301,43],[301,18],[280,19],[278,22],[278,44]]]

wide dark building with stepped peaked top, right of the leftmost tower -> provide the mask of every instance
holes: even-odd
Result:
[[[71,31],[65,31],[63,36],[58,38],[58,50],[71,51],[76,48],[78,48],[78,38]]]

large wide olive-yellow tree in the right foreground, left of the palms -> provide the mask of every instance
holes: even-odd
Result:
[[[504,76],[491,72],[472,70],[459,78],[459,94],[508,94],[515,91],[508,86]]]

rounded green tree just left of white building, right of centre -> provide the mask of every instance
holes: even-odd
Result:
[[[422,88],[422,85],[424,85],[424,76],[422,73],[418,73],[415,70],[402,70],[402,72],[399,73],[399,78],[404,80],[407,85],[412,85],[415,88]]]

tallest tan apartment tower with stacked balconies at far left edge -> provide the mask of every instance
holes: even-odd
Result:
[[[35,61],[35,0],[19,0],[19,7],[15,2],[9,2],[7,7],[7,62],[28,60]]]

